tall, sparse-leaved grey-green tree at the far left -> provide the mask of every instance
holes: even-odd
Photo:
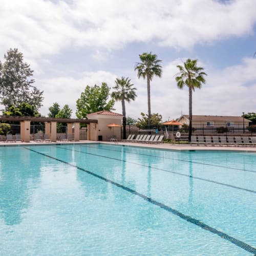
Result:
[[[4,55],[5,62],[0,65],[0,98],[6,110],[14,105],[17,108],[23,102],[33,105],[36,110],[41,107],[43,91],[33,86],[30,79],[33,70],[23,61],[23,54],[18,49],[10,49]]]

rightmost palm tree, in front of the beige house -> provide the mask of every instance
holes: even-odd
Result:
[[[201,88],[202,84],[205,83],[204,76],[207,76],[206,73],[202,72],[204,70],[201,67],[197,67],[196,59],[187,59],[184,62],[184,67],[178,65],[177,68],[180,70],[176,74],[176,82],[179,89],[183,89],[186,85],[188,87],[189,95],[189,130],[188,130],[188,141],[191,141],[192,135],[192,91],[195,92],[195,88]]]

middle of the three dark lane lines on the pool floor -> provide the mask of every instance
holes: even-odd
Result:
[[[121,160],[121,159],[114,158],[114,157],[106,157],[106,156],[101,156],[101,155],[97,155],[97,154],[93,154],[93,153],[88,153],[88,152],[83,152],[83,151],[78,151],[78,150],[72,150],[72,149],[67,148],[67,147],[60,147],[60,146],[55,146],[55,147],[61,148],[62,150],[69,150],[69,151],[79,152],[79,153],[88,154],[88,155],[92,155],[92,156],[97,156],[97,157],[103,157],[103,158],[107,158],[107,159],[117,160],[117,161],[121,161],[121,162],[132,163],[132,164],[136,164],[136,165],[143,166],[143,167],[148,167],[148,168],[152,168],[152,169],[156,169],[156,170],[161,170],[162,172],[177,174],[177,175],[180,175],[180,176],[185,176],[185,177],[189,177],[189,178],[197,179],[197,180],[203,180],[203,181],[207,181],[207,182],[211,182],[211,183],[215,183],[215,184],[219,184],[219,185],[223,185],[223,186],[227,186],[227,187],[237,188],[237,189],[240,189],[240,190],[244,190],[244,191],[256,194],[256,191],[251,190],[251,189],[247,189],[247,188],[243,188],[243,187],[237,187],[237,186],[229,185],[229,184],[218,182],[218,181],[207,180],[207,179],[203,179],[203,178],[192,176],[192,175],[181,174],[181,173],[174,172],[172,170],[166,170],[166,169],[152,167],[152,166],[148,166],[148,165],[144,165],[144,164],[140,164],[140,163],[134,163],[134,162],[130,162],[130,161],[126,161],[126,160]]]

